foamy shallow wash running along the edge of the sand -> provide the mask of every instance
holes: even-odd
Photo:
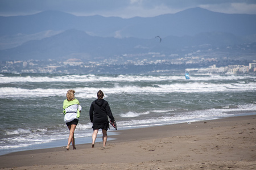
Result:
[[[255,104],[242,104],[236,105],[236,107],[223,107],[223,108],[210,108],[201,111],[184,111],[181,113],[172,113],[172,114],[162,114],[159,117],[137,117],[144,114],[150,114],[150,112],[155,113],[166,113],[172,112],[170,110],[153,110],[142,113],[127,112],[122,116],[127,117],[127,120],[117,120],[118,129],[133,129],[133,128],[144,128],[148,126],[160,126],[160,125],[170,125],[170,124],[179,124],[184,122],[195,122],[200,120],[213,120],[222,117],[235,116],[236,113],[245,113],[245,111],[256,111]],[[235,113],[236,112],[236,113]],[[245,113],[247,114],[247,113]],[[255,114],[255,113],[254,113]],[[238,115],[238,114],[237,114]],[[136,122],[136,123],[134,123]],[[76,128],[76,138],[90,137],[92,135],[92,124],[88,122],[87,124],[79,123]],[[65,128],[65,130],[64,130]],[[110,131],[113,129],[110,129]],[[114,131],[114,130],[113,130]],[[46,132],[48,132],[46,134]],[[52,129],[47,131],[46,129],[22,129],[10,130],[7,133],[8,135],[5,138],[0,139],[1,141],[1,150],[6,150],[10,148],[21,148],[32,145],[40,145],[43,143],[49,143],[57,140],[68,139],[68,129],[67,127],[59,129]],[[99,135],[101,131],[99,131]],[[9,137],[10,136],[10,137]]]

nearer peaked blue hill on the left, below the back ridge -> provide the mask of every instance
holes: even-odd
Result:
[[[42,40],[32,40],[24,44],[0,51],[2,60],[6,59],[67,59],[72,55],[86,59],[88,56],[100,57],[127,53],[136,44],[145,44],[141,39],[90,36],[84,31],[69,29],[58,35]]]

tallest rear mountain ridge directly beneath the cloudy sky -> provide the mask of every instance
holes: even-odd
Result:
[[[256,33],[256,15],[223,14],[203,8],[191,8],[176,14],[151,18],[75,16],[60,11],[44,11],[34,15],[0,17],[0,36],[32,34],[47,30],[78,29],[101,37],[138,37],[156,35],[193,36],[201,32],[227,32],[236,36]]]

